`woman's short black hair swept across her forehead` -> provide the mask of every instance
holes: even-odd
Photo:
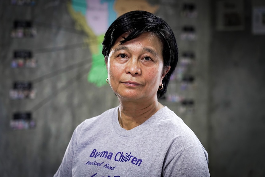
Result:
[[[110,49],[122,34],[126,33],[127,37],[123,37],[124,40],[120,41],[121,44],[139,37],[144,32],[151,32],[161,40],[164,69],[168,66],[171,67],[163,78],[164,88],[157,91],[157,97],[160,98],[166,93],[170,76],[178,62],[178,47],[175,35],[171,27],[162,18],[142,10],[130,11],[121,15],[109,26],[104,36],[102,54],[105,60],[108,60]]]

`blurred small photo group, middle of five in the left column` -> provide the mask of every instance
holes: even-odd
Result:
[[[32,52],[29,50],[16,50],[11,61],[12,68],[35,68],[37,61],[32,57]]]

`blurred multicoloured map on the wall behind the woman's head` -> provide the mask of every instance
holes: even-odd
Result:
[[[101,54],[104,34],[110,24],[120,15],[132,10],[156,13],[158,5],[147,0],[71,0],[68,11],[75,21],[75,28],[87,34],[84,43],[92,54],[92,66],[88,82],[100,87],[106,84],[107,70]]]

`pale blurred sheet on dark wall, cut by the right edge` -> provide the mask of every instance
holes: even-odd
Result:
[[[265,6],[253,7],[252,10],[252,33],[265,34]]]

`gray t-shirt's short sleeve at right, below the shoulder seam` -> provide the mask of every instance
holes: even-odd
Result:
[[[208,177],[208,153],[200,145],[184,148],[165,163],[163,177]]]

